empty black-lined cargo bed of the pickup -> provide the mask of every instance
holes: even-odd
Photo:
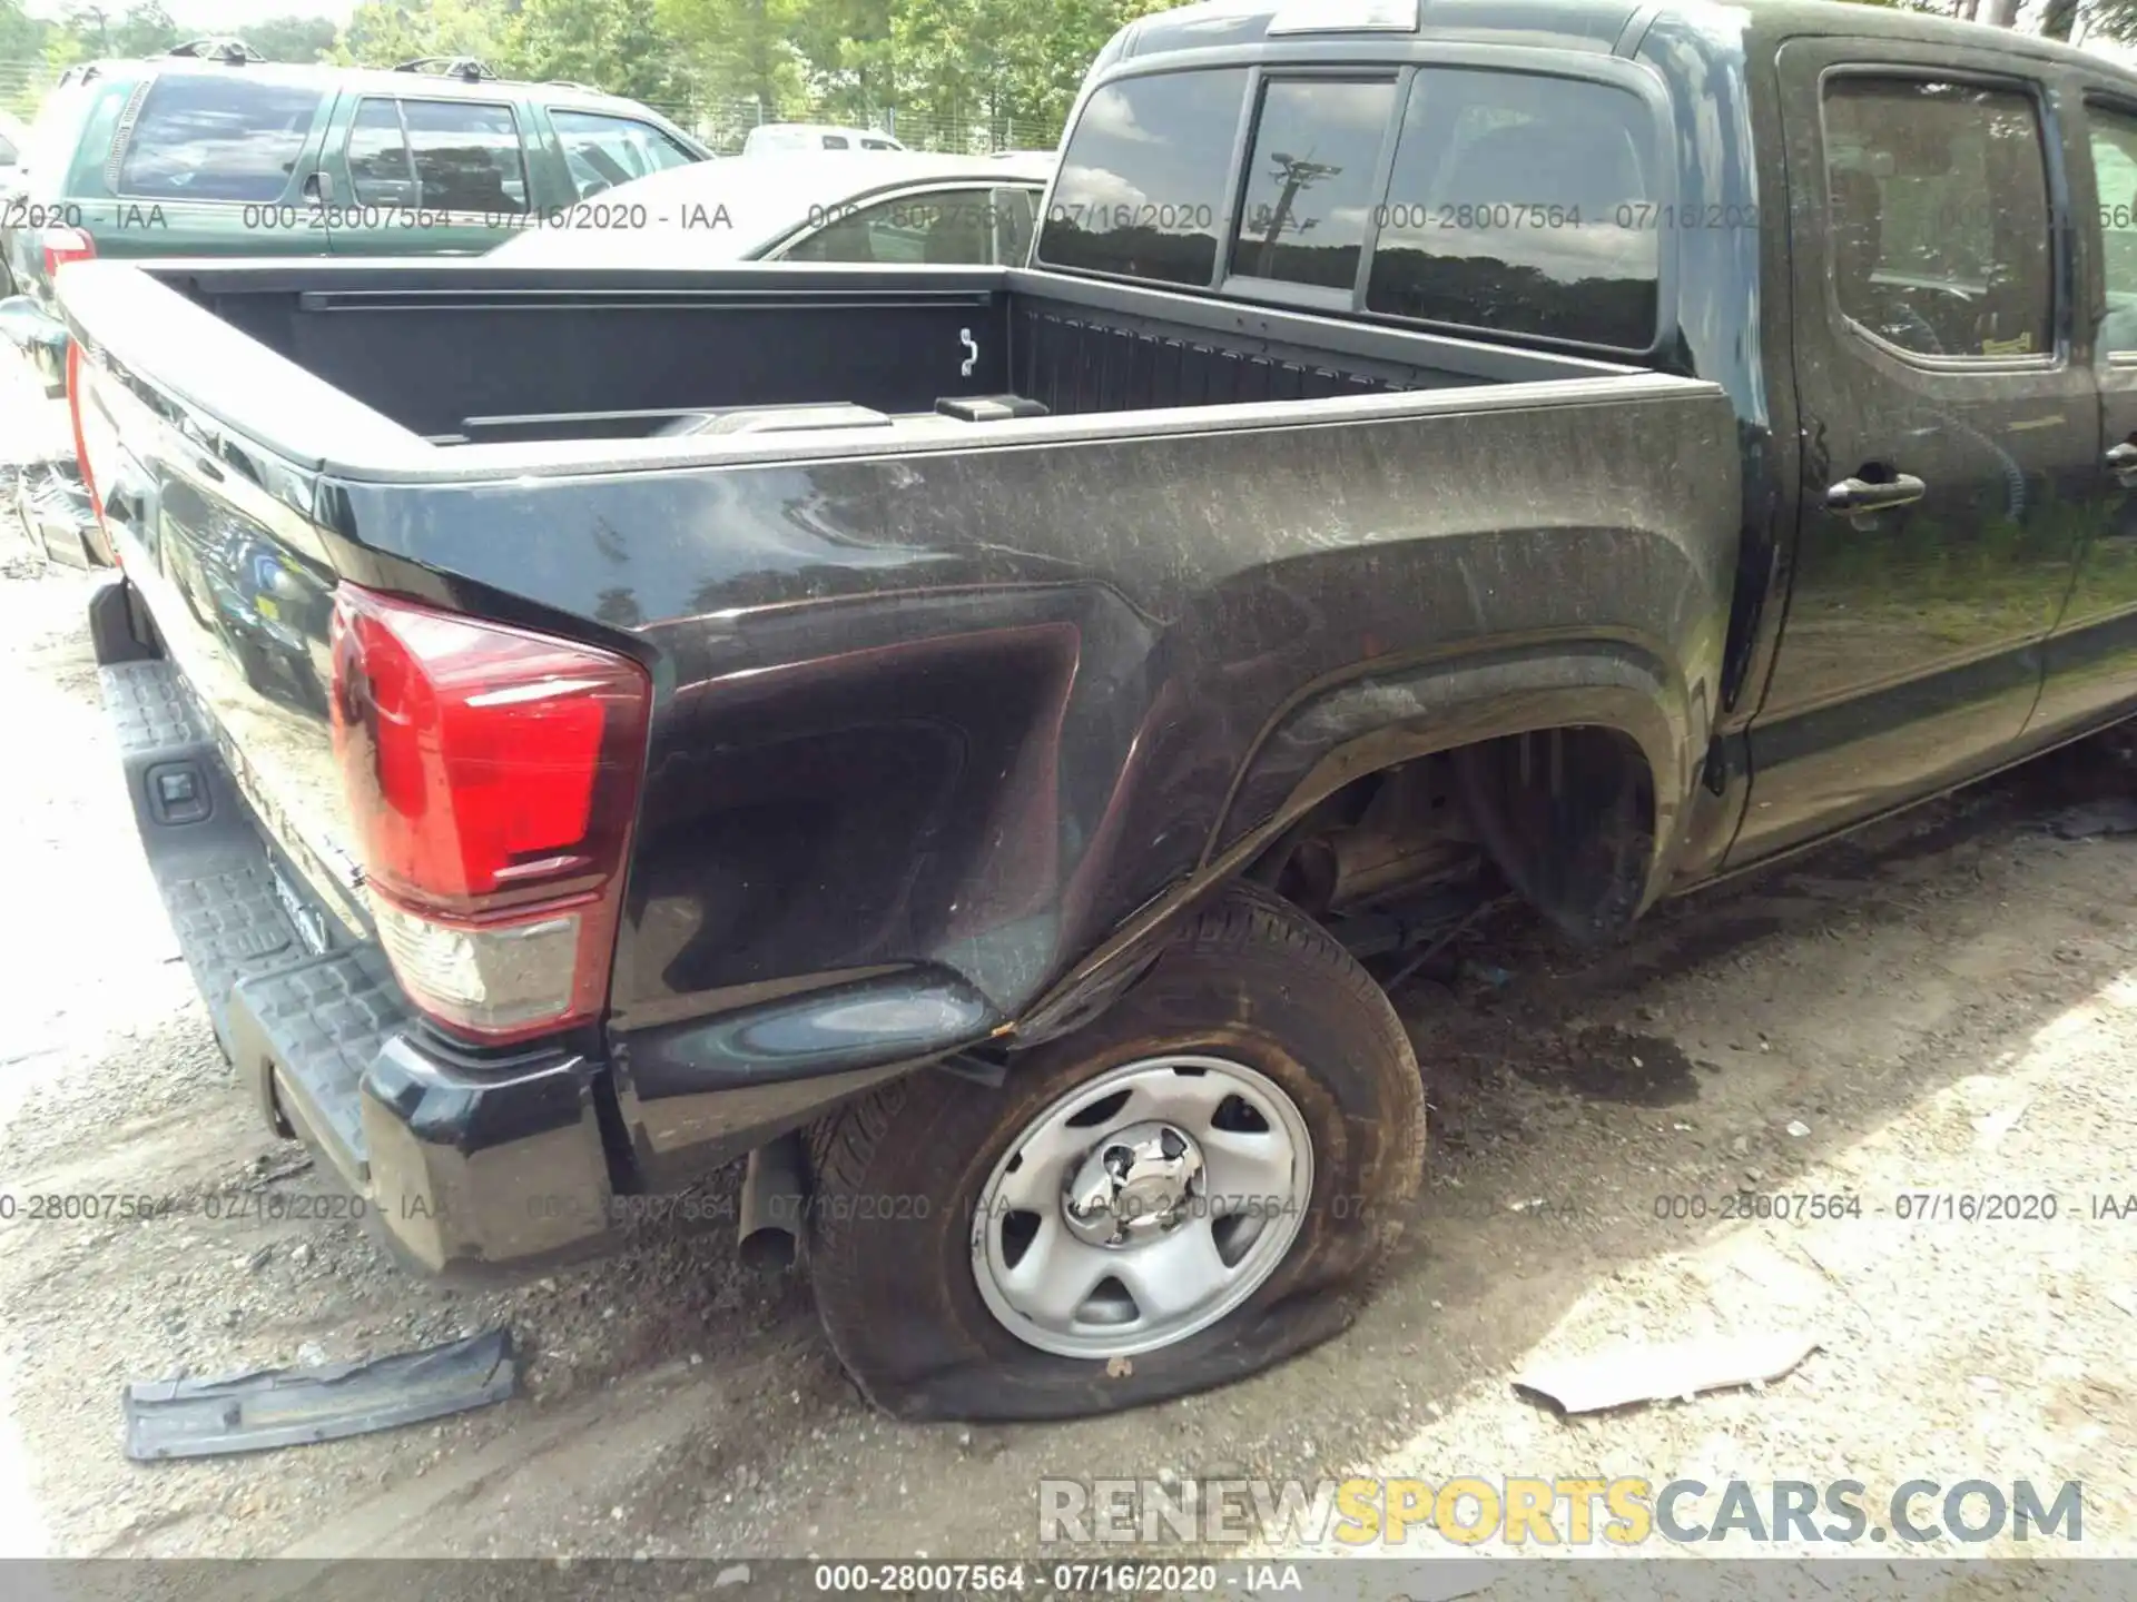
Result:
[[[209,410],[237,331],[423,444],[457,451],[650,438],[731,408],[863,408],[887,419],[880,444],[942,438],[955,419],[938,402],[964,395],[1015,395],[1060,419],[1637,372],[996,267],[671,273],[301,261],[160,263],[150,273],[214,320],[173,327],[165,297],[100,284],[77,286],[68,303],[122,344],[130,316],[160,318],[162,348],[184,331],[186,382]],[[299,444],[301,423],[286,419],[291,431],[265,444],[318,468],[359,466]],[[453,476],[489,466],[430,461]]]

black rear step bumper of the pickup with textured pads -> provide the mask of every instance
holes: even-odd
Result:
[[[297,874],[278,874],[184,679],[160,658],[113,662],[107,634],[105,707],[141,846],[216,1038],[269,1126],[361,1196],[374,1235],[421,1273],[519,1277],[611,1243],[596,1064],[560,1047],[455,1049],[417,1019],[378,946],[314,951],[295,918],[338,925]]]

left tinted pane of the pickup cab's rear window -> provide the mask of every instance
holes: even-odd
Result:
[[[1092,94],[1062,152],[1039,261],[1214,282],[1246,79],[1244,68],[1154,73]]]

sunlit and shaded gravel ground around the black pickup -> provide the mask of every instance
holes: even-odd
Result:
[[[1464,976],[1398,998],[1430,1171],[1346,1337],[1133,1416],[908,1427],[842,1378],[799,1275],[742,1267],[716,1226],[451,1294],[355,1224],[263,1218],[323,1179],[237,1096],[177,959],[115,784],[90,581],[4,555],[0,741],[26,775],[0,797],[0,1190],[169,1209],[0,1224],[0,1555],[1028,1553],[1036,1480],[1088,1474],[1853,1478],[1872,1502],[2075,1478],[2084,1551],[2133,1553],[2137,1215],[2094,1198],[2137,1192],[2137,842],[2043,827],[2128,788],[2105,743],[1671,904],[1603,957],[1519,918],[1481,931]],[[1859,1213],[1722,1222],[1744,1188]],[[1898,1218],[1917,1192],[2052,1194],[2056,1218]],[[1673,1196],[1707,1215],[1656,1218]],[[498,1322],[528,1354],[511,1403],[250,1459],[120,1455],[128,1380]],[[1763,1391],[1566,1420],[1509,1384],[1624,1337],[1769,1329],[1819,1350]]]

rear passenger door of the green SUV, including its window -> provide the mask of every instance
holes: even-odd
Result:
[[[530,128],[511,100],[344,96],[327,156],[333,254],[481,254],[528,218]]]

